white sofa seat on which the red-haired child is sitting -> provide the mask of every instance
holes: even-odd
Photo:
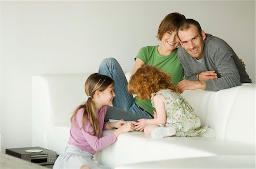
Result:
[[[98,152],[96,159],[114,168],[129,163],[233,154],[254,155],[254,145],[205,137],[152,139],[143,132],[130,132],[121,134],[113,145]]]

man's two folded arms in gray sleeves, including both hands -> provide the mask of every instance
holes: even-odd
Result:
[[[209,72],[210,70],[194,73],[192,69],[195,67],[192,67],[191,60],[187,58],[191,56],[186,56],[183,53],[184,51],[178,50],[178,56],[180,54],[179,58],[184,68],[185,78],[189,80],[178,83],[177,87],[181,92],[184,90],[196,90],[197,88],[218,91],[241,85],[240,74],[233,60],[233,50],[225,41],[217,39],[217,43],[214,41],[214,44],[208,44],[205,50],[207,50],[205,53],[207,55],[206,63],[208,64],[206,67],[216,70],[214,73]],[[217,74],[218,78],[216,77]],[[196,82],[198,78],[204,82]]]

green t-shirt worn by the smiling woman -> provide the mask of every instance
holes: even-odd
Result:
[[[141,59],[146,65],[159,67],[165,73],[170,74],[172,76],[171,81],[174,82],[174,84],[177,84],[184,77],[183,67],[177,57],[177,50],[171,55],[162,56],[158,53],[157,48],[158,46],[143,47],[139,50],[136,58]],[[135,98],[134,102],[148,113],[151,113],[151,115],[154,114],[154,108],[152,107],[150,100],[147,99],[143,101]]]

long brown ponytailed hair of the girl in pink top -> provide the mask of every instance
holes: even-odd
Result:
[[[86,79],[85,86],[84,86],[85,93],[86,95],[89,96],[89,98],[87,99],[87,102],[79,105],[79,107],[75,109],[75,111],[73,112],[73,115],[71,116],[71,122],[75,120],[77,111],[79,111],[79,109],[81,108],[84,108],[84,114],[82,116],[82,129],[84,129],[85,122],[89,120],[94,129],[93,133],[90,133],[90,134],[93,134],[93,136],[98,136],[98,134],[100,134],[100,127],[98,122],[98,116],[96,115],[96,112],[95,112],[96,108],[92,98],[97,90],[104,91],[110,85],[114,86],[114,81],[112,78],[106,75],[102,75],[100,73],[91,74],[88,77],[88,79]]]

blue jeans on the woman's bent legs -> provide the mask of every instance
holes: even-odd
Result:
[[[115,98],[113,107],[109,107],[105,116],[108,119],[123,119],[125,121],[137,121],[138,119],[152,119],[151,115],[134,103],[133,95],[127,91],[127,79],[125,73],[115,58],[105,58],[98,69],[98,73],[108,75],[114,79]]]

